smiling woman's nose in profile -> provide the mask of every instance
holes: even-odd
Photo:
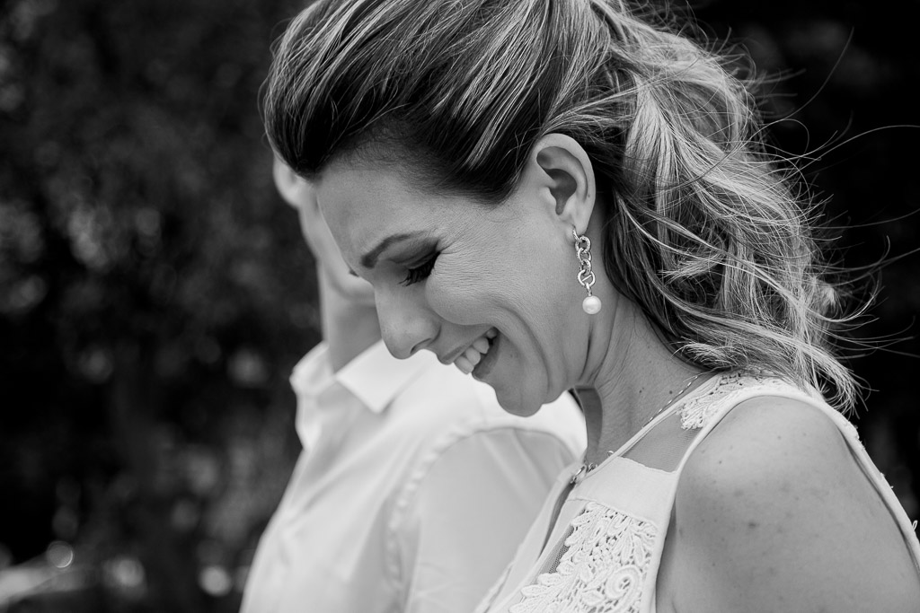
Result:
[[[377,291],[374,298],[384,344],[394,357],[406,359],[437,337],[437,315],[424,303],[420,289]]]

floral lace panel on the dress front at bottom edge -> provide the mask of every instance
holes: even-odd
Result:
[[[556,570],[524,587],[510,613],[638,613],[658,528],[597,503],[571,528]]]

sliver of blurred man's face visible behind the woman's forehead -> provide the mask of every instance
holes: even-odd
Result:
[[[339,246],[329,233],[326,221],[316,205],[314,189],[278,158],[275,158],[272,174],[275,187],[300,218],[301,232],[307,246],[316,257],[322,272],[328,278],[332,289],[344,298],[361,304],[374,305],[374,289],[362,278],[351,274],[339,252]]]

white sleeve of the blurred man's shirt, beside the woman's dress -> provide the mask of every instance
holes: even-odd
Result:
[[[502,427],[458,438],[404,488],[391,525],[406,613],[469,613],[511,562],[569,448]]]

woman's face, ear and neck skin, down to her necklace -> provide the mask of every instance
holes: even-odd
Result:
[[[501,405],[533,414],[578,388],[593,462],[699,372],[661,345],[600,266],[592,289],[603,310],[581,310],[585,292],[571,231],[592,240],[599,263],[604,203],[577,142],[559,134],[541,139],[520,186],[498,206],[426,193],[368,157],[334,161],[314,187],[346,263],[374,285],[383,338],[397,358],[428,349],[451,363],[497,330],[497,359],[483,380]],[[394,234],[409,238],[382,252],[373,268],[364,266],[362,256]],[[431,276],[406,285],[409,269],[433,253],[439,255]]]

